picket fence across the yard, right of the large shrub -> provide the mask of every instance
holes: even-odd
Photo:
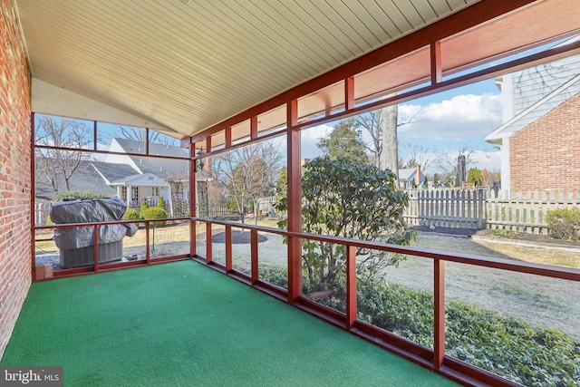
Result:
[[[414,189],[403,215],[411,226],[508,229],[546,234],[546,214],[580,206],[578,190]]]

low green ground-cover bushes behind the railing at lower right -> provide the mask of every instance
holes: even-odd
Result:
[[[359,318],[433,345],[433,296],[401,285],[359,286]],[[580,343],[554,328],[452,300],[446,305],[446,353],[528,386],[580,381]]]

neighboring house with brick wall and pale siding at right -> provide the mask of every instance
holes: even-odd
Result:
[[[580,55],[496,81],[503,124],[485,140],[501,150],[501,189],[578,189]]]

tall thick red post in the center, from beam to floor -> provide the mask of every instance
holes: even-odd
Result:
[[[301,231],[302,214],[302,171],[300,165],[300,130],[298,123],[298,102],[287,103],[288,130],[288,231]],[[302,293],[302,239],[288,237],[288,303],[294,304]]]

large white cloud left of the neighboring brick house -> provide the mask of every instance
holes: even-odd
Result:
[[[403,122],[411,117],[415,120],[399,128],[401,137],[483,139],[501,124],[501,99],[491,93],[464,94],[426,106],[401,104],[399,113]]]

